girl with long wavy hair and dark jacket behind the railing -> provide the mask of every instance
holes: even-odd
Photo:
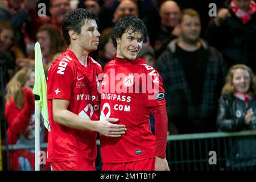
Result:
[[[217,128],[220,131],[256,129],[256,80],[249,67],[233,65],[226,77],[219,100]],[[227,169],[256,169],[256,141],[253,138],[234,139]],[[241,159],[241,160],[239,160]],[[248,160],[250,159],[250,160]]]

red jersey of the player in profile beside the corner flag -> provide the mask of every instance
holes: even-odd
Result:
[[[88,56],[87,66],[80,63],[68,48],[48,71],[49,138],[48,161],[85,160],[94,162],[97,155],[94,131],[77,130],[59,125],[53,120],[52,100],[68,100],[68,110],[85,119],[98,120],[100,94],[97,76],[101,65]]]

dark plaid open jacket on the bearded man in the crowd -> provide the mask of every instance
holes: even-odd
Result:
[[[184,69],[177,58],[177,39],[168,44],[167,50],[156,63],[156,69],[163,78],[166,92],[169,130],[174,123],[179,133],[216,131],[218,98],[224,84],[226,66],[216,49],[209,47],[203,39],[200,39],[200,42],[207,63],[204,73],[201,73],[204,74],[204,83],[199,106],[195,106],[192,102]]]

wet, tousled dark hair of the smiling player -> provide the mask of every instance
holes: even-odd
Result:
[[[121,38],[122,35],[128,31],[131,31],[131,33],[140,32],[142,35],[143,43],[147,42],[147,28],[143,21],[139,18],[135,18],[134,16],[127,16],[120,19],[119,22],[115,24],[112,34],[110,35],[115,48],[117,48],[117,41],[115,39]]]

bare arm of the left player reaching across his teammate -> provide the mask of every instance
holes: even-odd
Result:
[[[90,121],[79,117],[78,115],[69,111],[69,101],[62,99],[52,100],[52,114],[55,122],[60,125],[71,127],[79,130],[92,130],[105,135],[106,137],[121,137],[125,134],[125,125],[116,125],[110,122],[117,122],[118,119],[106,118],[100,121]]]

